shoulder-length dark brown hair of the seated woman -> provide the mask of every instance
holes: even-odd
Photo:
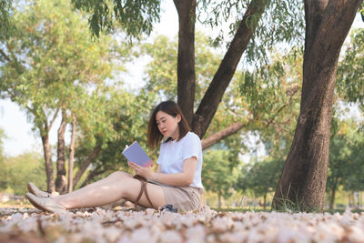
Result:
[[[185,137],[187,132],[189,131],[189,126],[185,116],[183,116],[181,109],[174,101],[164,101],[161,102],[156,108],[153,110],[152,115],[149,118],[148,128],[147,128],[147,145],[148,147],[155,148],[159,145],[160,141],[163,139],[163,135],[160,133],[156,116],[158,111],[166,112],[170,116],[176,117],[177,115],[181,116],[181,120],[178,123],[179,127],[179,137],[177,141],[179,141],[182,137]]]

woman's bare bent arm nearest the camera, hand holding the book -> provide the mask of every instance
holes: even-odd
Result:
[[[147,179],[171,186],[187,187],[193,182],[197,167],[197,157],[185,159],[183,161],[182,172],[175,174],[160,173],[160,166],[158,166],[157,172],[153,172],[150,167],[140,167],[135,163],[130,163],[130,167],[135,169],[136,174]]]

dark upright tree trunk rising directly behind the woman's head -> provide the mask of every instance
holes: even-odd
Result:
[[[177,103],[192,123],[195,102],[196,0],[174,0],[179,21],[177,58]]]

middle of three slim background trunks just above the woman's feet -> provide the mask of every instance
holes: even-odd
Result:
[[[60,194],[66,191],[66,167],[65,167],[65,133],[66,133],[66,111],[62,111],[62,122],[58,128],[58,146],[57,146],[57,161],[56,161],[56,191]]]

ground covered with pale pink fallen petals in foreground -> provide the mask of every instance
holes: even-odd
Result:
[[[364,242],[364,213],[0,208],[0,242]]]

